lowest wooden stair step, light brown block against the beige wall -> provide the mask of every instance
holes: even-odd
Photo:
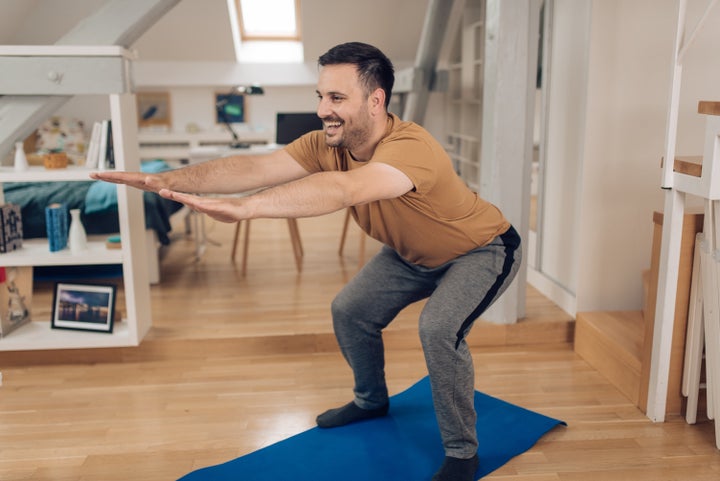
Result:
[[[577,314],[575,352],[636,405],[643,337],[641,311]]]

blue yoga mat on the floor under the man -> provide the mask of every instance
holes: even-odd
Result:
[[[530,449],[563,421],[475,391],[476,478]],[[180,481],[421,481],[445,457],[427,377],[391,398],[390,413],[339,428],[313,428]]]

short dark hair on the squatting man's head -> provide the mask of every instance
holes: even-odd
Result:
[[[395,83],[395,69],[392,62],[380,49],[361,42],[337,45],[318,59],[318,65],[355,65],[360,82],[369,95],[376,88],[385,91],[385,109],[390,105],[390,95]]]

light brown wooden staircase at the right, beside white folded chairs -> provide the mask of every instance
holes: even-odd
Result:
[[[676,161],[675,169],[687,170],[689,166],[683,162]],[[663,215],[654,213],[653,223],[651,266],[650,271],[643,276],[645,293],[643,309],[579,312],[575,321],[575,352],[603,374],[643,412],[646,412],[648,399]],[[681,388],[685,330],[695,234],[701,232],[702,227],[703,214],[684,215],[666,414],[680,414],[684,408]]]

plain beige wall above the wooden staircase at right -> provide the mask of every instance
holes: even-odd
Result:
[[[688,30],[705,2],[688,2]],[[677,2],[592,3],[578,311],[639,309],[663,155]],[[700,153],[698,100],[720,99],[716,8],[685,62],[678,153]]]

